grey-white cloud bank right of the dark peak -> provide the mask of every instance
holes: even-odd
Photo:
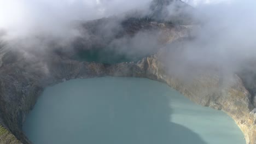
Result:
[[[256,55],[255,1],[205,5],[198,8],[203,20],[197,38],[190,43],[191,61],[216,61],[226,66],[254,58]],[[197,52],[198,54],[196,55]]]

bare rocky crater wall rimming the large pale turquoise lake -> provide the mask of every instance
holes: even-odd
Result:
[[[223,85],[223,77],[212,70],[193,77],[187,83],[175,75],[167,74],[166,68],[156,55],[143,58],[137,63],[114,65],[77,62],[59,57],[54,57],[45,64],[48,65],[46,72],[31,70],[31,65],[24,62],[5,65],[0,71],[1,124],[22,143],[30,143],[22,133],[22,123],[44,87],[69,79],[107,75],[146,77],[166,82],[195,103],[228,113],[245,134],[247,143],[256,142],[254,117],[250,114],[254,108],[250,101],[251,94],[237,75],[230,76],[229,85]]]

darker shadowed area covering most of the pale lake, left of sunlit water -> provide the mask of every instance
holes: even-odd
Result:
[[[73,85],[72,82],[73,81],[71,81],[70,85]],[[118,82],[115,81],[115,83]],[[81,84],[82,83],[80,83],[80,85]],[[128,86],[127,83],[125,84],[126,86],[122,86],[122,84],[119,83],[120,85],[115,86],[115,91],[113,92],[113,88],[105,84],[106,83],[102,82],[102,84],[98,85],[100,85],[100,87],[101,85],[105,86],[107,92],[101,93],[97,89],[94,89],[93,86],[95,85],[92,83],[91,88],[87,89],[87,93],[94,92],[96,94],[88,94],[86,95],[86,99],[83,100],[79,100],[78,97],[73,95],[73,97],[77,99],[73,102],[71,99],[67,99],[69,105],[64,105],[68,107],[68,109],[74,110],[70,112],[72,113],[71,116],[68,116],[70,114],[68,111],[63,112],[67,116],[62,117],[62,121],[53,122],[53,120],[47,116],[45,116],[46,118],[44,117],[46,120],[39,118],[39,116],[38,118],[28,118],[26,122],[28,126],[25,128],[28,137],[36,144],[206,144],[206,142],[192,130],[170,122],[172,110],[167,97],[161,95],[161,93],[164,93],[161,88],[149,90],[148,88],[150,88],[150,86],[138,87],[139,85],[145,85],[145,83],[138,81],[137,84],[134,85],[135,82],[133,81],[132,83],[131,81]],[[69,88],[72,89],[70,86]],[[76,88],[78,89],[73,90],[80,91],[79,89],[82,89],[82,87]],[[65,87],[62,87],[62,89],[65,89]],[[57,91],[56,88],[55,90]],[[64,96],[62,95],[62,97]],[[51,100],[55,101],[53,98],[51,98]],[[41,100],[39,100],[39,103],[40,101]],[[61,103],[61,101],[65,100],[57,101]],[[53,109],[50,103],[51,102],[48,101],[48,108],[44,108],[48,113],[51,113],[50,109]],[[54,103],[56,104],[56,101],[53,102],[53,104]],[[72,103],[75,105],[72,106]],[[34,113],[36,113],[37,109],[39,109],[38,107],[40,107],[40,104],[37,105],[35,107],[36,110],[32,111],[29,117],[36,115]],[[80,107],[81,105],[82,107]],[[60,106],[59,109],[62,110],[62,107]],[[73,118],[75,115],[80,115],[83,118]],[[50,119],[49,122],[51,121],[51,125],[36,126],[38,123],[34,122],[34,119],[40,119],[40,122],[45,122],[48,121],[47,119]],[[67,128],[67,132],[63,128],[56,128],[58,127],[56,125],[60,123],[66,125],[62,125],[62,127],[72,125],[72,128],[75,127],[75,131]],[[37,127],[40,130],[36,130]],[[43,139],[42,135],[36,133],[42,131],[43,133],[47,133],[44,131],[44,128],[48,131],[51,131],[50,128],[57,129],[57,131],[49,132],[52,134],[49,134]]]

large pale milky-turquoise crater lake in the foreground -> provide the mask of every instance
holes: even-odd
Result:
[[[192,103],[164,83],[76,79],[45,89],[24,124],[35,144],[243,144],[224,112]]]

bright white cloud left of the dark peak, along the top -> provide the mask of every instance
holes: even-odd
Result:
[[[148,3],[149,0],[0,0],[0,28],[11,38],[34,33],[61,35],[73,21],[120,15]]]

